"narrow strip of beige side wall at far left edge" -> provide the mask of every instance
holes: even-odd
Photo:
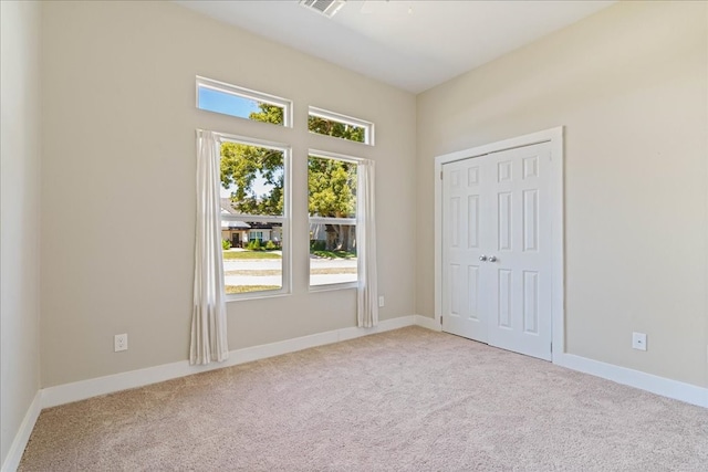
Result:
[[[0,464],[40,389],[40,4],[0,2]]]

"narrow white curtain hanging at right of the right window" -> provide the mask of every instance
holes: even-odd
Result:
[[[378,279],[376,276],[376,212],[374,208],[374,162],[358,164],[358,195],[356,197],[356,251],[358,255],[358,286],[356,318],[358,327],[378,324]]]

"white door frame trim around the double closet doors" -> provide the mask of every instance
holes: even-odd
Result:
[[[442,165],[541,143],[551,144],[551,360],[558,364],[565,353],[563,126],[435,157],[435,321],[442,325]]]

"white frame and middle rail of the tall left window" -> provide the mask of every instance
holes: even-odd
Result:
[[[243,221],[243,222],[279,222],[282,224],[281,241],[281,266],[282,266],[282,284],[278,290],[262,290],[258,292],[246,293],[226,293],[226,280],[223,283],[223,292],[227,302],[236,302],[239,300],[270,298],[274,296],[290,295],[292,293],[292,148],[283,143],[268,141],[251,137],[238,136],[227,133],[215,132],[219,139],[219,146],[223,143],[236,143],[247,146],[266,147],[283,153],[283,214],[282,217],[270,214],[243,214],[229,213],[221,214],[220,221]],[[221,158],[219,158],[219,162]],[[249,238],[250,241],[250,238]],[[226,276],[226,275],[225,275]]]

